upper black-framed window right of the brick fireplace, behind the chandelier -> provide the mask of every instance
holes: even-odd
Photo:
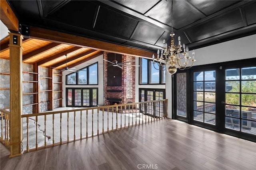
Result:
[[[140,84],[164,84],[165,70],[159,70],[158,64],[150,59],[140,58]]]

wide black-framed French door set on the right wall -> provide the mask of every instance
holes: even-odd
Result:
[[[256,142],[256,59],[192,67],[173,80],[174,119]]]

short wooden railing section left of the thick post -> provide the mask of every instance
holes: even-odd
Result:
[[[0,142],[7,148],[10,145],[10,112],[0,109],[1,139]]]

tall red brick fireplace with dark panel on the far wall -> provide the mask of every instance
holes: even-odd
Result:
[[[113,61],[114,53],[104,52],[104,59]],[[130,55],[116,54],[118,63],[134,61],[135,57]],[[135,65],[135,63],[126,63]],[[122,66],[123,69],[108,66],[105,63],[104,70],[104,103],[105,105],[126,104],[135,102],[135,67]],[[113,69],[108,70],[108,69]],[[116,76],[117,75],[117,76]],[[109,77],[108,77],[109,76]],[[108,82],[111,81],[111,82]],[[116,83],[112,83],[116,82]]]

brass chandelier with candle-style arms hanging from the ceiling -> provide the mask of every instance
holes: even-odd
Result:
[[[172,0],[171,12],[172,11],[173,11],[173,0]],[[172,16],[172,14],[171,14],[171,16]],[[171,27],[173,27],[172,20],[171,20]],[[168,46],[164,40],[163,47],[161,50],[161,55],[160,55],[160,51],[158,49],[157,57],[155,58],[154,54],[152,56],[154,68],[158,69],[158,70],[166,70],[166,66],[170,65],[168,67],[168,73],[170,73],[172,76],[174,73],[176,73],[177,68],[180,70],[190,68],[193,66],[194,61],[196,61],[194,49],[192,51],[192,59],[189,61],[189,59],[191,57],[188,54],[188,51],[189,51],[188,46],[186,46],[184,43],[181,45],[180,36],[178,36],[178,45],[174,45],[174,35],[175,34],[174,34],[173,28],[172,28],[172,32],[170,34],[170,36],[171,36],[170,46]],[[182,48],[183,48],[183,50],[182,50]],[[165,57],[163,57],[163,55]],[[155,67],[155,61],[157,61],[156,63],[158,64],[158,68]]]

